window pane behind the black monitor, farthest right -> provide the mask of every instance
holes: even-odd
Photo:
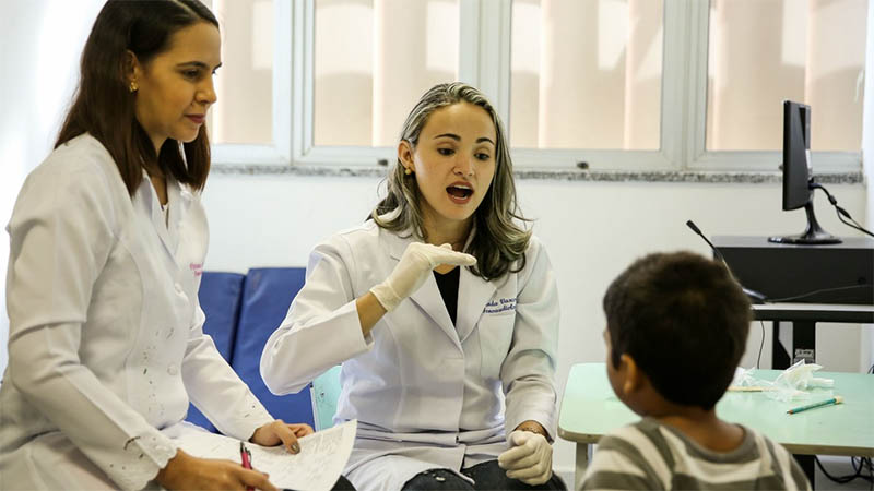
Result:
[[[782,147],[782,100],[811,106],[811,149],[859,152],[867,0],[711,0],[708,151]]]

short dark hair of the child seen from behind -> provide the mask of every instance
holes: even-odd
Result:
[[[711,409],[746,347],[749,300],[725,266],[690,252],[635,261],[607,288],[610,362],[629,355],[668,400]]]

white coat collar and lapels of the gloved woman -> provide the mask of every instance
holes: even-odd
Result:
[[[465,250],[475,232],[476,228],[474,226],[468,236],[464,246]],[[402,233],[387,232],[386,237],[389,255],[398,261],[406,250],[406,246],[411,242],[422,241],[412,231]],[[468,267],[462,267],[459,274],[456,325],[452,325],[452,320],[449,319],[449,312],[446,310],[446,304],[433,274],[428,275],[422,287],[414,291],[410,299],[422,308],[449,337],[454,339],[458,348],[461,349],[461,343],[468,338],[476,323],[480,322],[480,316],[482,316],[486,303],[495,295],[495,285],[492,282],[486,282],[482,277],[474,275]]]

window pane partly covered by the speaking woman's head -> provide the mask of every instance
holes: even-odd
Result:
[[[316,0],[314,144],[393,146],[422,94],[458,79],[458,0]]]

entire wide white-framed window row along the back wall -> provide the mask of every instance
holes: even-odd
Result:
[[[814,165],[858,170],[866,0],[212,0],[217,164],[391,161],[438,82],[485,92],[517,167],[777,170],[781,100]]]

